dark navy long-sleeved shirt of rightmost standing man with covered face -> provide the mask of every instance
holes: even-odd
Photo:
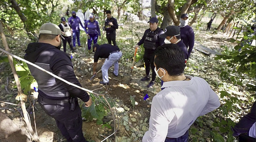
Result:
[[[189,26],[186,25],[181,29],[181,39],[183,40],[183,43],[186,45],[188,48],[188,57],[190,56],[190,53],[194,47],[194,42],[195,42],[195,34],[193,29]]]

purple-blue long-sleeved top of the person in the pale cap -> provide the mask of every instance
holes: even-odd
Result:
[[[88,31],[87,31],[87,28],[88,28]],[[95,20],[93,22],[91,22],[90,20],[85,21],[84,31],[86,34],[99,34],[99,36],[101,36],[99,23]]]

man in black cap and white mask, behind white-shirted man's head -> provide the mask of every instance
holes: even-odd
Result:
[[[170,43],[177,44],[180,49],[184,52],[185,64],[188,60],[187,47],[180,38],[180,28],[178,26],[168,26],[163,34],[160,34],[160,38],[166,38]],[[161,80],[161,86],[163,86],[164,81]],[[161,88],[163,90],[164,88]]]

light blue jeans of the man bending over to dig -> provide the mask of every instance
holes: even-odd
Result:
[[[105,60],[105,63],[101,67],[101,72],[102,72],[102,78],[103,82],[107,83],[109,82],[108,79],[108,69],[114,64],[115,69],[114,69],[114,74],[117,76],[118,75],[118,70],[119,70],[119,64],[118,61],[122,57],[123,53],[122,51],[110,54],[109,57]]]

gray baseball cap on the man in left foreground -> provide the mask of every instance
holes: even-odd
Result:
[[[45,23],[41,26],[39,34],[61,35],[61,29],[56,24]]]

